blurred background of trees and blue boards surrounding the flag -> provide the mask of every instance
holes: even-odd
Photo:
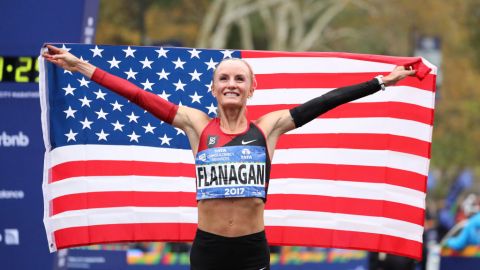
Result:
[[[455,225],[465,224],[478,212],[480,0],[2,0],[0,12],[1,269],[80,269],[67,262],[77,258],[84,263],[77,267],[85,266],[83,255],[71,254],[108,254],[112,250],[125,251],[129,260],[153,252],[157,262],[174,262],[163,266],[150,263],[157,265],[155,269],[186,267],[188,263],[188,245],[182,244],[109,245],[48,253],[42,224],[44,146],[36,83],[36,56],[44,42],[341,51],[426,58],[439,73],[424,240],[431,255],[424,257],[431,260],[423,263],[430,264],[429,269],[439,269],[440,264],[441,269],[449,269],[449,265],[474,269],[468,268],[468,263],[480,261],[478,243],[457,249],[439,246],[450,234],[453,237],[462,231],[464,225]],[[364,268],[344,264],[344,268],[324,265],[322,269],[397,269],[387,266],[389,256],[384,254],[273,250],[278,262],[281,258],[288,261],[285,256],[290,256],[290,265],[285,267],[292,268],[277,269],[314,269],[299,268],[302,262],[312,262],[300,258],[317,258],[312,260],[318,266],[338,254],[344,254],[335,257],[344,262],[360,258],[362,263],[357,266]],[[391,261],[397,259],[402,260]],[[462,263],[467,264],[460,266]],[[99,265],[90,263],[89,267],[123,269],[95,268]],[[407,262],[405,268],[398,269],[422,267],[422,263]]]

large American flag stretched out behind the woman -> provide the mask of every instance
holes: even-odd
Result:
[[[386,91],[344,104],[279,140],[265,210],[272,245],[421,257],[436,68],[421,58],[60,44],[144,91],[216,116],[215,65],[248,61],[248,117],[414,64]],[[42,59],[41,59],[42,60]],[[194,158],[185,133],[123,97],[42,61],[44,223],[50,250],[124,241],[191,241]],[[421,79],[419,79],[421,78]]]

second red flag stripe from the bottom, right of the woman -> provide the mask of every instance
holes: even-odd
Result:
[[[423,226],[424,210],[411,205],[358,198],[270,194],[265,209],[291,209],[385,217]],[[408,213],[408,215],[405,215]]]

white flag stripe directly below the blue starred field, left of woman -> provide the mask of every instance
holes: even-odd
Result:
[[[71,145],[50,152],[51,167],[79,160],[125,160],[194,164],[191,150],[136,145]]]

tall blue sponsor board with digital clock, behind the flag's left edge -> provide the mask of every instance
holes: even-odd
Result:
[[[45,42],[93,41],[98,5],[0,1],[0,269],[52,269],[43,226],[37,56]]]

